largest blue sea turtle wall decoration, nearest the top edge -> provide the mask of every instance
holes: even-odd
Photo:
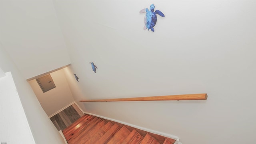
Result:
[[[164,14],[160,10],[156,10],[154,12],[154,9],[155,9],[154,4],[151,4],[150,10],[148,10],[148,8],[144,8],[140,10],[140,13],[146,12],[146,16],[144,19],[144,22],[145,22],[144,30],[148,28],[148,31],[150,29],[152,32],[154,32],[155,31],[154,26],[156,25],[156,20],[157,20],[156,14],[164,17]]]

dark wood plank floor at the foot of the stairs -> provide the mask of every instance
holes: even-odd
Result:
[[[52,116],[50,120],[58,130],[64,130],[83,115],[84,113],[76,106],[76,104],[72,104],[68,108]]]

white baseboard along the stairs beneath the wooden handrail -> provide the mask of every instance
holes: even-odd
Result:
[[[126,122],[122,122],[122,121],[119,121],[119,120],[115,120],[115,119],[112,119],[112,118],[107,118],[107,117],[104,117],[104,116],[99,116],[97,114],[92,114],[92,113],[89,113],[89,112],[84,112],[85,114],[89,114],[89,115],[92,115],[92,116],[97,116],[99,118],[104,118],[106,120],[111,120],[111,121],[114,121],[114,122],[119,122],[120,124],[124,124],[124,125],[127,125],[127,126],[131,126],[131,127],[134,127],[134,128],[138,128],[140,130],[144,130],[146,132],[151,132],[153,134],[158,134],[160,136],[165,136],[165,137],[168,137],[168,138],[172,138],[174,140],[176,140],[176,142],[174,144],[181,144],[180,142],[178,142],[180,140],[180,138],[178,136],[174,136],[174,135],[171,135],[171,134],[166,134],[164,132],[158,132],[156,130],[150,130],[148,128],[143,128],[143,127],[140,127],[140,126],[136,126],[136,125],[133,125],[133,124],[128,124]]]

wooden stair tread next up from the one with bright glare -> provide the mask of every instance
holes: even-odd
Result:
[[[104,126],[106,124],[105,120],[101,120],[100,123],[98,123],[97,125],[95,125],[90,131],[87,131],[84,134],[80,134],[79,135],[79,139],[76,141],[76,144],[84,144],[86,143],[88,140],[90,140],[90,138],[92,138],[92,136],[94,136],[94,134],[96,134],[98,132],[98,130]]]

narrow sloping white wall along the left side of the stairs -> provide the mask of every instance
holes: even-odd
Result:
[[[4,72],[12,72],[18,96],[20,97],[22,107],[24,108],[24,112],[36,144],[64,144],[63,138],[40,106],[32,88],[22,76],[14,62],[12,62],[8,53],[1,44],[0,67]],[[15,108],[16,104],[9,103],[8,106]],[[19,107],[17,106],[16,108]],[[12,114],[11,111],[9,112]],[[15,136],[13,136],[13,138],[15,139]]]

